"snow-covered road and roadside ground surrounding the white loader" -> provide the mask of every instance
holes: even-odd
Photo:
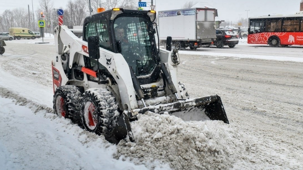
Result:
[[[175,140],[172,136],[166,143],[161,141],[161,146],[145,141],[137,141],[136,145],[121,142],[115,146],[105,141],[103,136],[85,132],[69,120],[47,113],[52,108],[50,66],[55,47],[53,39],[45,41],[50,44],[32,44],[31,40],[6,41],[5,54],[0,56],[0,96],[25,105],[15,106],[12,100],[0,99],[3,108],[0,110],[0,166],[4,165],[1,167],[303,169],[303,47],[248,45],[243,39],[235,48],[209,47],[179,52],[178,76],[191,97],[218,94],[230,122],[230,125],[216,121],[183,125],[177,119],[170,120],[171,123],[182,124],[185,130],[199,126],[195,130],[213,138],[217,148],[223,147],[221,156],[203,152],[204,155],[200,156],[205,157],[201,160],[191,157],[194,154],[188,154],[191,159],[186,158],[186,149],[182,150],[181,145],[179,151],[184,152],[183,155],[174,157],[173,153],[180,152],[172,152],[168,148],[171,146],[169,142]],[[155,121],[153,119],[153,116],[143,116],[142,121],[139,119],[132,126],[149,127],[146,122]],[[157,127],[174,127],[166,125],[162,121]],[[163,133],[161,130],[142,130],[144,135],[139,131],[137,137],[152,140],[153,133]],[[42,153],[35,155],[34,152]],[[25,155],[28,157],[24,158]],[[48,159],[48,163],[43,163],[43,159]],[[204,161],[202,168],[198,166],[199,161]],[[194,162],[196,166],[191,165]],[[61,166],[53,165],[56,163]]]

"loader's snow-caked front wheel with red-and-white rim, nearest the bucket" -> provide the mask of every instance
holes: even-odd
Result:
[[[80,115],[81,123],[87,131],[107,135],[112,133],[120,112],[111,92],[107,89],[91,88],[82,97]]]

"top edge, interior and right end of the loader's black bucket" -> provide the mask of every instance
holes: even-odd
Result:
[[[159,114],[168,112],[171,115],[180,117],[184,121],[221,120],[229,124],[221,98],[218,95],[180,100],[174,103],[133,110],[137,114],[144,114],[146,111]]]

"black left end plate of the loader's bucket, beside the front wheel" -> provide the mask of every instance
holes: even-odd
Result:
[[[122,139],[129,139],[131,142],[135,142],[134,136],[132,134],[131,125],[129,118],[125,112],[123,112],[116,123],[116,126],[110,134],[105,135],[105,139],[108,142],[115,143],[116,145]]]

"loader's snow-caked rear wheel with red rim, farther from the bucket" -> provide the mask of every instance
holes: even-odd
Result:
[[[81,92],[78,87],[73,85],[58,87],[55,91],[53,100],[54,113],[58,116],[71,119],[74,123],[79,124],[81,123],[79,114],[80,100]],[[60,111],[61,109],[62,111]]]

